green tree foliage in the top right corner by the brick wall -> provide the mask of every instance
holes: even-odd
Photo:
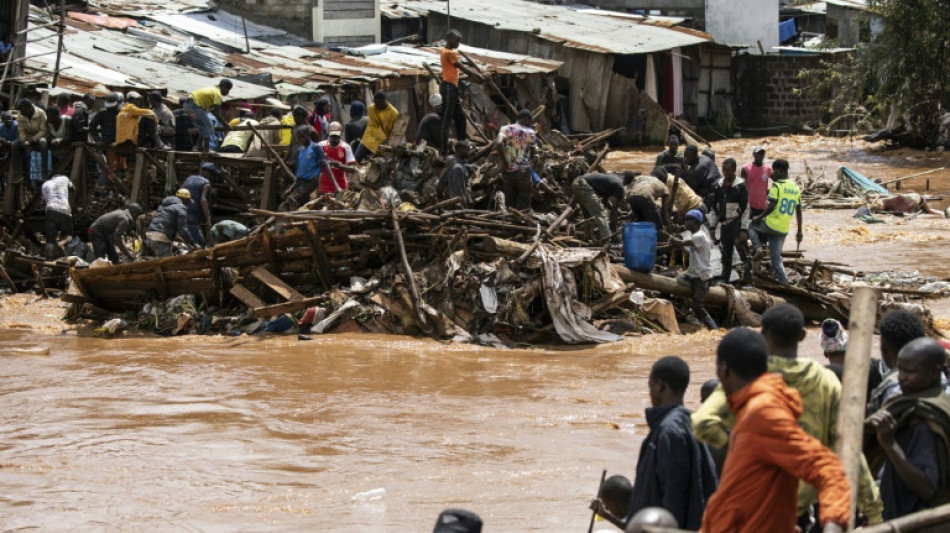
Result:
[[[933,139],[950,105],[948,0],[868,0],[870,43],[847,64],[826,61],[804,73],[808,90],[827,97],[829,112],[866,110],[879,123],[892,113],[913,135]],[[879,33],[877,32],[879,28]]]

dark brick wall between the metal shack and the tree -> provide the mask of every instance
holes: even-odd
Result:
[[[803,70],[822,61],[840,60],[830,55],[761,56],[742,54],[732,61],[736,81],[735,115],[740,126],[799,126],[827,113],[827,98],[803,92]]]

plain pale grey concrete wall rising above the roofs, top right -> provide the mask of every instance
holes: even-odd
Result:
[[[706,0],[706,32],[720,44],[746,44],[758,54],[778,46],[778,0]]]

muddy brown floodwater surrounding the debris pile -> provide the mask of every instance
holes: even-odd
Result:
[[[747,148],[717,144],[720,160]],[[946,221],[850,215],[809,213],[809,255],[950,275]],[[62,311],[0,299],[4,531],[426,532],[447,507],[486,531],[584,531],[601,469],[632,477],[653,361],[689,362],[695,408],[722,335],[517,351],[366,335],[103,340]],[[804,356],[822,360],[816,335]]]

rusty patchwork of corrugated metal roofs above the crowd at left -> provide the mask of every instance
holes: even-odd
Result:
[[[114,16],[70,14],[59,90],[104,95],[109,90],[157,89],[174,101],[226,76],[235,80],[229,100],[279,96],[288,103],[309,106],[318,97],[328,97],[342,121],[348,117],[352,100],[369,102],[373,92],[384,90],[400,112],[411,116],[410,138],[427,111],[428,95],[437,91],[425,68],[429,65],[438,70],[437,48],[374,45],[331,51],[250,22],[245,39],[240,17],[222,11],[151,11],[136,4],[131,8],[124,13],[118,5],[110,4]],[[48,20],[46,12],[34,8],[34,27]],[[52,35],[50,28],[31,31],[36,38]],[[48,54],[26,61],[26,71],[32,76],[25,85],[46,90],[55,50],[55,39],[29,44],[29,55]],[[530,107],[549,103],[545,76],[556,71],[560,61],[466,50],[494,75],[510,99]],[[486,116],[496,113],[495,103],[480,89],[473,89],[473,98]]]

